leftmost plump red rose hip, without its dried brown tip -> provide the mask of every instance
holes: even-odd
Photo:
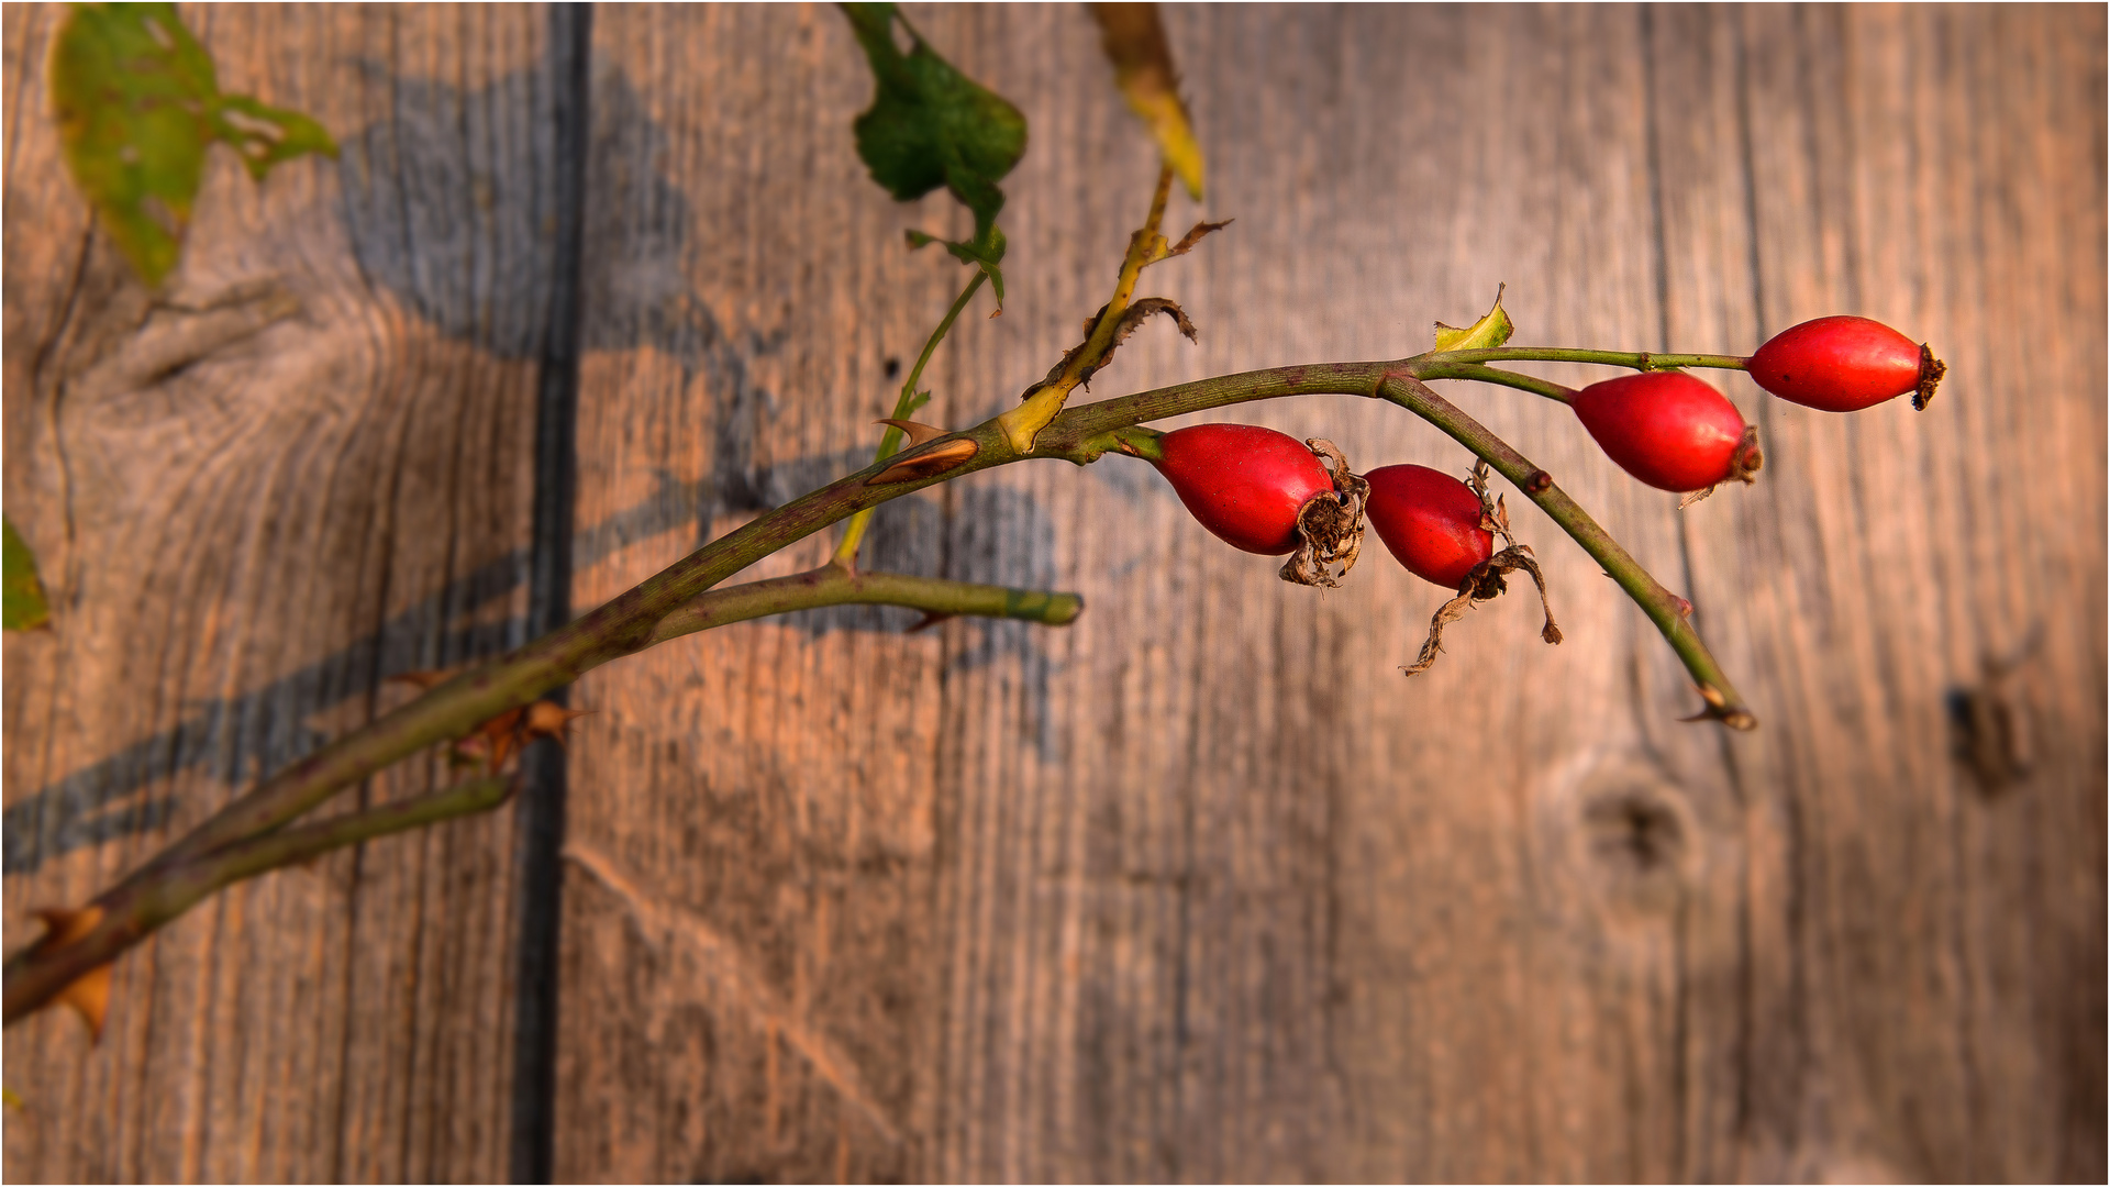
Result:
[[[1262,555],[1298,547],[1298,509],[1334,477],[1304,441],[1258,425],[1194,425],[1158,439],[1154,465],[1224,543]]]

